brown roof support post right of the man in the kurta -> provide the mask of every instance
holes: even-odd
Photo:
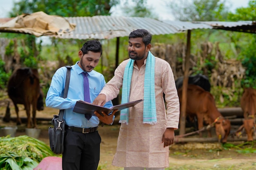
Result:
[[[180,135],[184,135],[186,132],[186,98],[187,98],[187,88],[189,82],[189,60],[190,60],[190,38],[191,30],[187,33],[186,42],[186,57],[185,57],[185,71],[182,85],[182,105],[180,110]]]

